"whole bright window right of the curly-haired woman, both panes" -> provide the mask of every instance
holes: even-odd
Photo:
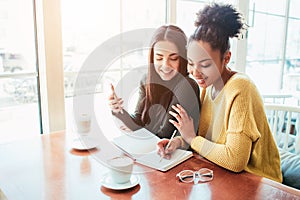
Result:
[[[300,89],[298,1],[250,1],[246,72],[262,94]],[[298,53],[297,53],[298,52]],[[266,74],[268,74],[266,76]]]

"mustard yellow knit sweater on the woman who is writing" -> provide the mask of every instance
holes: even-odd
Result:
[[[228,170],[282,182],[262,98],[246,75],[233,75],[214,100],[211,86],[203,89],[201,102],[199,136],[192,140],[192,149]]]

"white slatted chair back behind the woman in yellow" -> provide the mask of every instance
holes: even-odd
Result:
[[[300,107],[265,103],[265,110],[278,147],[300,154]]]

